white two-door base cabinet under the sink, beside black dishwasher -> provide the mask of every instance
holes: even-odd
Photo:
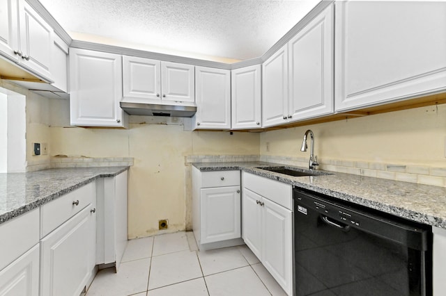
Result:
[[[242,183],[243,240],[284,291],[293,295],[291,185],[246,172]],[[277,203],[282,200],[283,204]]]

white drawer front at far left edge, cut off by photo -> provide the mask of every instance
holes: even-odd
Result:
[[[39,242],[39,209],[0,224],[0,270]]]

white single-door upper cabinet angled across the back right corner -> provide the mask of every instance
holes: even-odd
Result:
[[[231,71],[232,129],[261,127],[261,65]]]

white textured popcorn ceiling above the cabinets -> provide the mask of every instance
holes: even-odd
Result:
[[[229,63],[264,54],[318,2],[40,0],[75,40]]]

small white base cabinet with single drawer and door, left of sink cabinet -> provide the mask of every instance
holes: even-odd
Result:
[[[240,170],[192,167],[192,227],[199,249],[243,245],[240,222]]]

